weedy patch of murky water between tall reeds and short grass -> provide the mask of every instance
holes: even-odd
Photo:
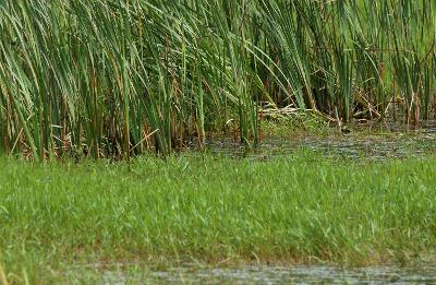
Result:
[[[386,158],[423,157],[436,154],[436,131],[425,129],[388,134],[348,134],[296,139],[265,139],[258,149],[247,149],[229,138],[207,141],[211,153],[234,157],[271,159],[305,149],[325,155],[340,155],[352,159],[384,161]]]

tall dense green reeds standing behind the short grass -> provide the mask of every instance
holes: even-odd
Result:
[[[5,0],[0,150],[33,157],[168,154],[262,107],[428,119],[432,0]],[[337,114],[337,116],[336,116]]]

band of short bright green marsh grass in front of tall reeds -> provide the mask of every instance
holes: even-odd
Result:
[[[308,151],[268,162],[2,157],[0,264],[11,284],[44,284],[94,262],[413,263],[434,257],[435,165]]]

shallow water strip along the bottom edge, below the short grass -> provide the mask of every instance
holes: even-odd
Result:
[[[372,266],[245,266],[210,269],[184,266],[147,273],[146,277],[107,271],[106,284],[436,284],[435,269]]]

